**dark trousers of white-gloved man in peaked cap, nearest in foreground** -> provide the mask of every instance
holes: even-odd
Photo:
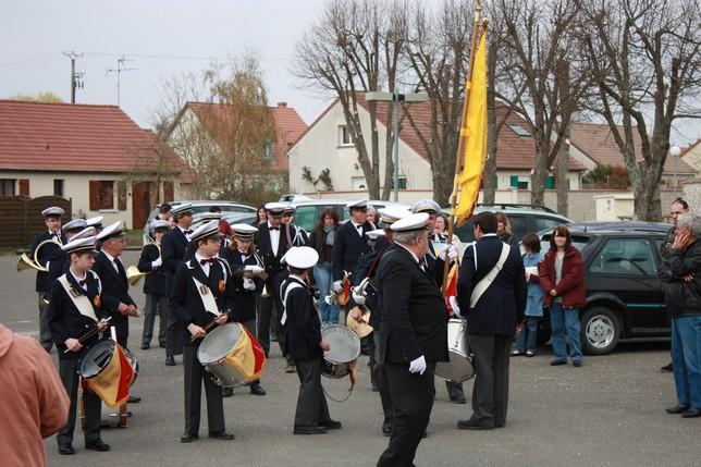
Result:
[[[380,456],[378,467],[413,465],[433,407],[434,370],[435,364],[429,364],[423,374],[409,373],[407,364],[385,364],[394,417],[390,445]]]

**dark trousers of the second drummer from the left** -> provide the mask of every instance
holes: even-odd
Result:
[[[201,411],[202,382],[207,397],[207,422],[209,433],[224,431],[224,403],[221,386],[197,359],[199,345],[183,348],[183,367],[185,368],[185,432],[199,434],[199,416]]]

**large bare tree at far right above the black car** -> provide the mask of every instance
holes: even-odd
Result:
[[[624,155],[636,217],[659,221],[672,123],[701,118],[694,100],[701,89],[701,7],[698,0],[587,0],[583,13],[591,30],[583,50],[597,86],[591,108]]]

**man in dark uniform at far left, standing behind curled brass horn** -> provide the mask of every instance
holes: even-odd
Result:
[[[35,257],[37,246],[39,246],[41,242],[50,239],[56,242],[56,244],[45,244],[36,255],[39,266],[47,269],[47,271],[37,271],[36,280],[36,291],[39,300],[39,342],[47,352],[51,352],[53,342],[51,341],[51,333],[49,332],[49,327],[46,321],[46,297],[49,294],[50,286],[48,271],[51,268],[50,261],[56,256],[61,255],[61,243],[63,241],[61,237],[61,216],[63,216],[63,209],[58,206],[52,206],[42,210],[41,216],[44,216],[44,223],[47,226],[47,232],[40,233],[34,239],[29,257]]]

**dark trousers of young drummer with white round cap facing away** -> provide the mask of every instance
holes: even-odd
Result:
[[[316,427],[329,421],[329,405],[321,390],[321,357],[295,364],[299,378],[295,427]]]

